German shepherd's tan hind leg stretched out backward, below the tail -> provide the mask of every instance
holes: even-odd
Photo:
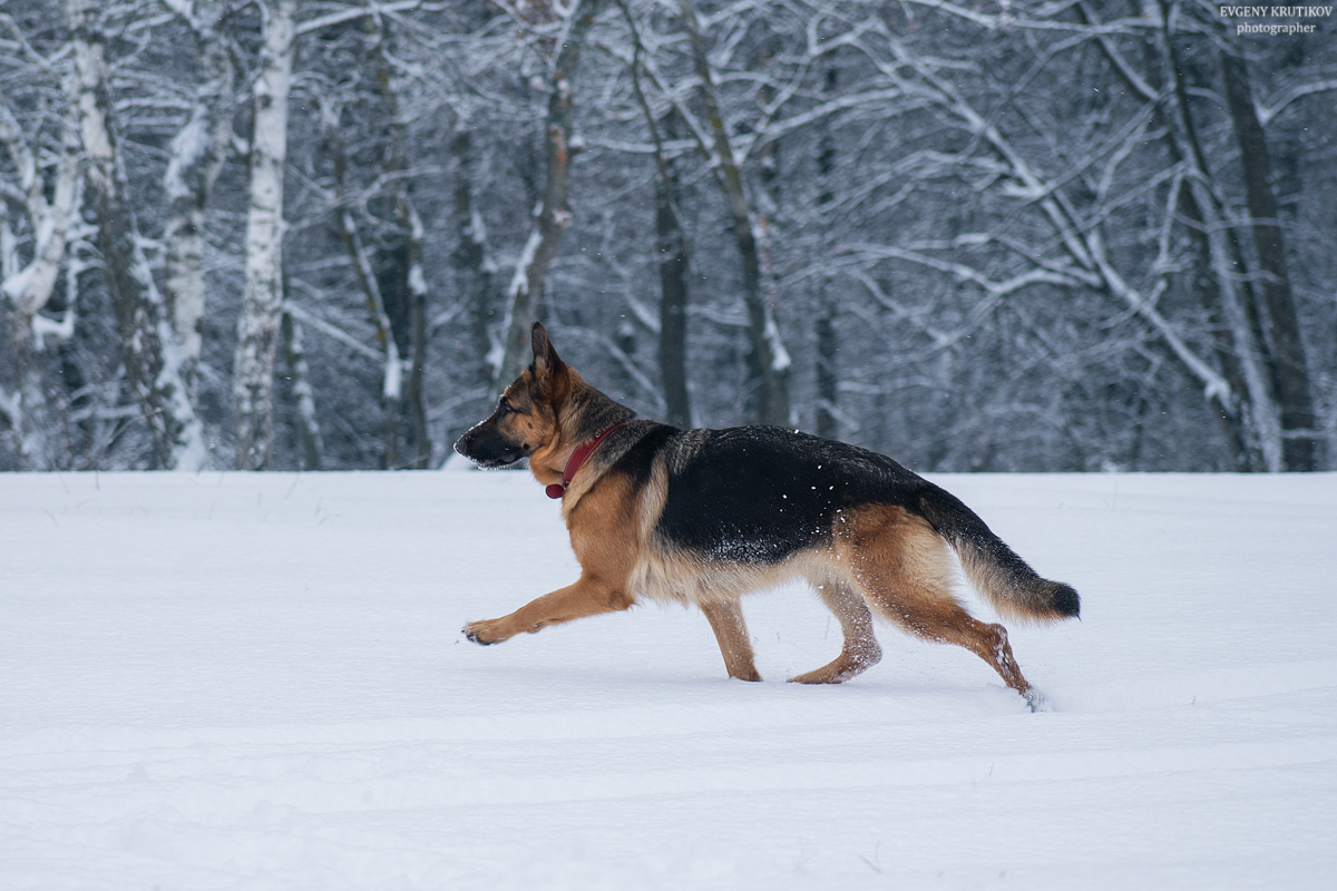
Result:
[[[837,553],[869,605],[919,637],[969,649],[1031,701],[1007,629],[975,618],[952,593],[947,541],[901,508],[861,513],[837,534]]]

